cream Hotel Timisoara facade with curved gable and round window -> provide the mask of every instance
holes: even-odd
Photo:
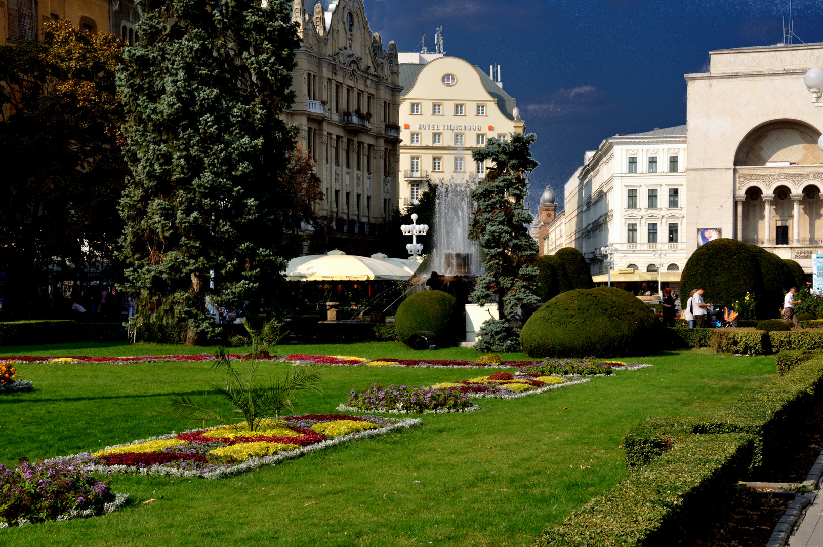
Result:
[[[402,52],[399,60],[400,204],[407,207],[430,184],[483,178],[487,166],[472,161],[472,150],[526,128],[502,82],[477,66],[443,54]]]

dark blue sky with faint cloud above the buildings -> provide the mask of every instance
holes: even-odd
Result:
[[[532,152],[530,201],[563,185],[584,152],[616,133],[686,123],[689,72],[707,72],[709,50],[780,42],[788,0],[364,0],[383,43],[433,49],[502,67]],[[795,34],[823,42],[823,0],[793,0]],[[797,40],[796,40],[797,41]]]

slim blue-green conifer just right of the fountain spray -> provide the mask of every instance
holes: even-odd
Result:
[[[483,248],[484,273],[469,299],[477,304],[497,302],[498,319],[507,321],[522,315],[528,319],[537,297],[535,267],[537,241],[528,232],[532,214],[523,208],[528,185],[526,172],[537,167],[531,145],[537,140],[533,133],[512,133],[509,139],[490,138],[488,144],[472,151],[472,160],[491,160],[494,165],[472,189],[477,203],[469,237]]]

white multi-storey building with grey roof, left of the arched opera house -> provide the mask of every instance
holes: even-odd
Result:
[[[566,183],[565,210],[545,225],[539,217],[542,254],[575,247],[597,276],[607,274],[601,247],[611,242],[613,269],[680,272],[689,239],[685,165],[685,125],[607,138]],[[539,209],[554,216],[553,203],[548,189]]]

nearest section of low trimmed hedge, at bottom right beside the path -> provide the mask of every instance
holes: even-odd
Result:
[[[572,512],[537,545],[624,547],[682,544],[711,526],[751,461],[745,434],[690,435]],[[677,540],[674,540],[677,538]]]

